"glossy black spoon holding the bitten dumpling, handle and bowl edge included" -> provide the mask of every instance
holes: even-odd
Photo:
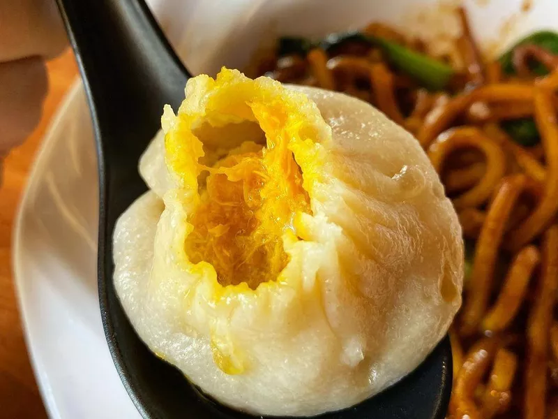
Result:
[[[186,1],[186,0],[185,0]],[[99,161],[98,281],[105,335],[128,394],[144,418],[253,418],[204,397],[135,334],[114,291],[112,233],[146,186],[137,162],[160,127],[165,103],[183,99],[190,74],[142,0],[57,0],[91,108]],[[323,419],[442,419],[451,392],[444,339],[380,395]]]

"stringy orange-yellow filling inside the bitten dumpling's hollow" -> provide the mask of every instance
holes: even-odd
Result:
[[[296,213],[310,212],[292,152],[285,142],[268,140],[259,151],[229,152],[203,170],[209,176],[186,239],[190,262],[213,265],[223,286],[246,282],[255,289],[277,279],[288,262],[282,235],[296,233]]]

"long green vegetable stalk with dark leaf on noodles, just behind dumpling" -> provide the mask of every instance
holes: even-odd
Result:
[[[306,54],[312,47],[320,47],[326,52],[339,47],[342,43],[356,42],[366,45],[376,45],[386,54],[391,65],[415,78],[424,87],[441,90],[447,86],[454,75],[453,68],[447,64],[432,59],[424,54],[409,50],[398,43],[384,38],[369,36],[362,32],[352,31],[330,34],[318,43],[311,43],[304,38],[280,38],[278,54]]]

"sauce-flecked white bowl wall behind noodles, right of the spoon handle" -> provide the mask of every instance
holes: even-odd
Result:
[[[459,1],[439,0],[153,0],[179,55],[193,74],[243,68],[280,35],[312,38],[386,22],[412,34],[455,36],[448,13]],[[479,43],[491,52],[536,29],[558,27],[556,0],[464,0]],[[528,11],[524,5],[531,4]],[[497,48],[495,48],[497,45]]]

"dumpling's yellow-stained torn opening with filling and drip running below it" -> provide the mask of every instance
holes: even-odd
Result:
[[[246,358],[229,334],[232,312],[267,307],[270,293],[292,296],[301,285],[297,245],[329,182],[331,128],[300,91],[227,68],[188,80],[176,115],[166,105],[161,123],[172,182],[163,196],[175,233],[169,257],[195,281],[185,298],[211,312],[216,365],[241,374]]]

